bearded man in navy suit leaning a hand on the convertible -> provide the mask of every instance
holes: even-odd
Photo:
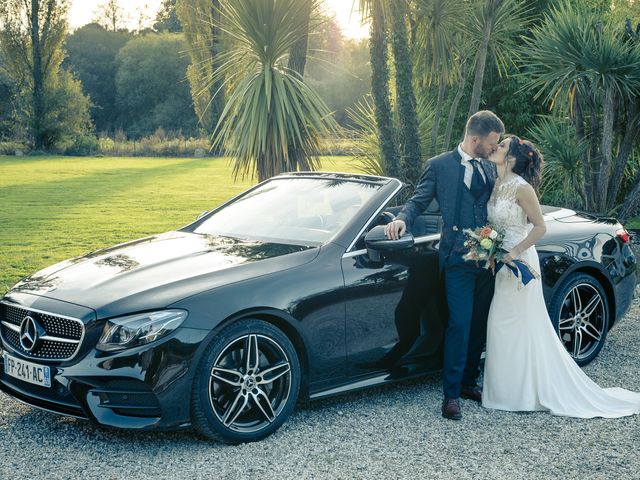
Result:
[[[413,197],[385,227],[387,237],[397,239],[434,198],[440,205],[443,220],[440,269],[444,273],[449,307],[442,416],[453,420],[462,418],[460,397],[482,401],[476,380],[494,280],[489,269],[462,259],[465,253],[462,230],[487,223],[487,202],[495,182],[495,167],[486,158],[497,149],[503,133],[504,125],[493,112],[483,110],[472,115],[462,143],[428,161]]]

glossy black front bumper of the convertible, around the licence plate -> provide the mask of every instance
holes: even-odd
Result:
[[[0,355],[0,390],[28,405],[95,424],[136,430],[175,429],[190,422],[196,352],[209,332],[178,328],[169,338],[105,354],[89,350],[51,368],[51,387],[8,376]],[[3,343],[9,355],[36,362]]]

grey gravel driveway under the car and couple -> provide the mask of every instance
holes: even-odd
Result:
[[[640,391],[640,289],[585,371]],[[0,393],[0,479],[640,478],[640,416],[580,420],[490,411],[463,401],[440,416],[440,379],[298,407],[260,443],[191,432],[136,434],[41,412]]]

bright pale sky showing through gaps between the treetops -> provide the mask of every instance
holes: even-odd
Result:
[[[323,0],[326,9],[335,13],[336,20],[346,37],[364,38],[368,36],[369,28],[360,25],[360,17],[357,13],[351,13],[352,0]],[[72,0],[69,10],[69,25],[72,30],[90,23],[98,6],[105,0]],[[129,17],[128,27],[137,29],[142,18],[142,27],[151,26],[160,8],[162,0],[120,0],[126,16]]]

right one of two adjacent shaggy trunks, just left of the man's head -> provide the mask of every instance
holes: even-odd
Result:
[[[402,179],[416,185],[422,174],[422,157],[418,135],[416,98],[413,93],[413,64],[407,39],[406,6],[402,2],[395,2],[392,5],[394,9],[391,45],[396,67]]]

